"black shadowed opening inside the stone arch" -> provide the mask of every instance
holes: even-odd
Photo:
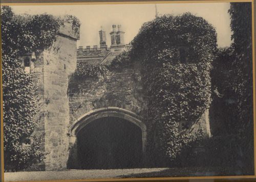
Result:
[[[84,126],[77,135],[80,169],[139,168],[142,131],[132,122],[103,117]]]

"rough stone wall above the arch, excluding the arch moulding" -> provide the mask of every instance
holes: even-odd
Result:
[[[114,70],[100,79],[79,80],[72,76],[69,83],[70,124],[80,116],[99,108],[118,107],[143,115],[143,96],[139,68]]]

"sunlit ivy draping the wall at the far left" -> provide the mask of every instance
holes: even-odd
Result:
[[[38,55],[50,47],[61,24],[63,20],[52,15],[15,15],[10,7],[1,7],[6,171],[26,170],[46,154],[40,149],[42,136],[34,136],[30,145],[24,145],[38,124],[38,96],[33,73],[24,71],[18,57],[33,51]]]

